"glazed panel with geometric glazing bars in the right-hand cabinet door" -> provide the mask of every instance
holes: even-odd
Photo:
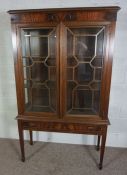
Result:
[[[67,28],[67,113],[99,114],[104,27]]]

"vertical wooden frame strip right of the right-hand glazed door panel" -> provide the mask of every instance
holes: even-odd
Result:
[[[105,55],[105,68],[103,72],[103,85],[101,92],[101,111],[102,118],[108,118],[108,106],[110,97],[110,85],[112,75],[112,62],[113,62],[113,50],[114,50],[114,37],[115,37],[115,22],[112,22],[107,26],[107,44],[106,44],[106,55]]]

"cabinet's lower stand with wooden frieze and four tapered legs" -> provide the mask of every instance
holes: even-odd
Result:
[[[89,123],[67,123],[67,122],[49,122],[49,121],[27,121],[18,119],[18,129],[19,129],[19,139],[20,148],[22,155],[22,162],[25,161],[25,151],[24,151],[24,130],[29,130],[30,134],[30,144],[33,145],[32,131],[50,131],[50,132],[63,132],[63,133],[77,133],[77,134],[88,134],[97,135],[97,150],[100,148],[100,163],[99,169],[102,169],[107,125],[89,124]],[[101,146],[100,146],[101,138]]]

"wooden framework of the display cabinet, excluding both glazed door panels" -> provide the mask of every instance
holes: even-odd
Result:
[[[114,7],[88,7],[65,9],[31,9],[10,10],[12,23],[12,41],[15,64],[15,78],[18,104],[18,129],[22,161],[25,161],[23,131],[29,130],[30,143],[32,131],[50,131],[63,133],[77,133],[98,135],[101,141],[100,163],[102,169],[108,119],[108,105],[110,95],[113,45],[117,11]],[[100,111],[97,115],[68,115],[67,106],[67,28],[81,28],[86,26],[104,26],[104,66],[101,80]],[[25,109],[24,75],[21,53],[21,29],[56,29],[56,74],[57,74],[57,109],[56,112],[32,112]]]

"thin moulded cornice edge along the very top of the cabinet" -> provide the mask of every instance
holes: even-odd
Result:
[[[49,8],[49,9],[22,9],[22,10],[9,10],[9,14],[16,13],[29,13],[29,12],[47,12],[47,11],[118,11],[119,6],[104,6],[104,7],[73,7],[73,8]]]

